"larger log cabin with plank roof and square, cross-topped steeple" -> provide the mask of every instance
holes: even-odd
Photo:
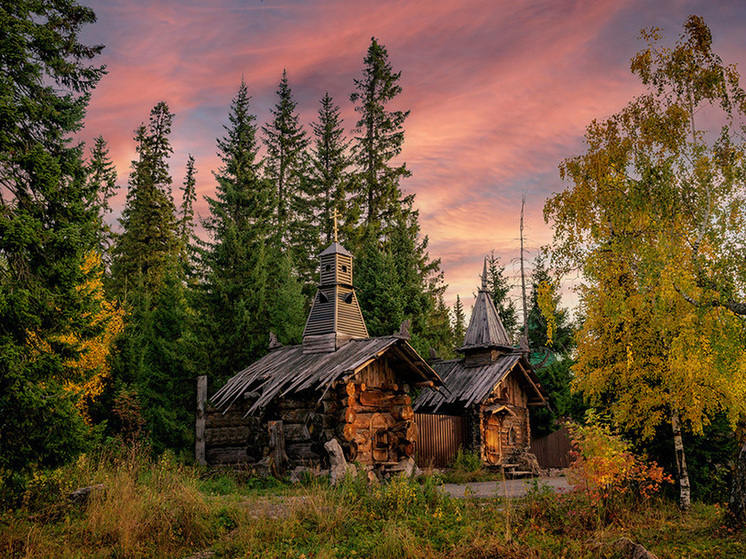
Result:
[[[269,353],[212,396],[204,462],[269,462],[275,472],[326,467],[324,444],[333,438],[348,461],[384,472],[414,455],[412,393],[442,381],[409,344],[406,324],[391,336],[368,336],[352,255],[336,238],[319,259],[302,344],[270,336]],[[198,427],[198,443],[201,434]]]

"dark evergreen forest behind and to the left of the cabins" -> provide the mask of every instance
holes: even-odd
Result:
[[[78,41],[94,13],[74,2],[3,9],[15,41],[2,58],[0,168],[0,471],[10,486],[116,438],[188,459],[197,376],[214,389],[264,355],[270,333],[301,341],[335,225],[355,257],[370,335],[409,320],[422,355],[455,355],[464,306],[445,304],[440,261],[404,188],[409,111],[375,38],[340,93],[358,119],[348,128],[331,93],[304,126],[285,71],[266,115],[254,114],[249,83],[236,84],[208,213],[196,216],[195,160],[171,167],[178,115],[166,100],[134,128],[126,177],[107,131],[90,146],[75,140],[106,79],[103,47]],[[494,254],[489,263],[490,292],[515,332],[504,266]]]

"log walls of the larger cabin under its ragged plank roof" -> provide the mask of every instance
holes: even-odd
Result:
[[[398,381],[398,382],[397,382]],[[324,443],[337,438],[348,461],[391,464],[414,455],[417,425],[409,387],[385,358],[334,385],[321,402],[318,392],[278,398],[259,416],[244,417],[252,399],[239,399],[225,413],[206,406],[208,464],[267,461],[284,470],[298,465],[326,467]],[[273,424],[272,437],[268,424]],[[281,426],[282,441],[278,440]],[[276,452],[282,446],[284,452]],[[279,462],[279,463],[278,463]]]

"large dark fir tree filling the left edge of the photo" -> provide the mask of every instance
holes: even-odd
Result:
[[[72,0],[3,2],[0,33],[0,481],[64,463],[87,427],[71,383],[101,327],[87,282],[99,192],[72,145],[104,74],[79,41],[93,11]],[[7,485],[5,487],[8,487]]]

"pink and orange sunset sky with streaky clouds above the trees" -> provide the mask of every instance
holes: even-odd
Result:
[[[583,152],[583,133],[641,92],[629,71],[643,27],[671,44],[690,14],[704,17],[715,51],[746,64],[740,0],[82,0],[98,23],[83,40],[106,45],[108,75],[94,92],[82,138],[103,135],[124,199],[133,130],[168,102],[176,114],[171,171],[176,189],[187,154],[198,168],[197,212],[212,195],[217,137],[243,75],[258,123],[269,119],[283,69],[301,120],[316,120],[328,91],[355,122],[353,79],[375,36],[386,46],[411,110],[403,183],[416,194],[430,255],[442,259],[446,301],[467,309],[481,261],[494,249],[518,283],[519,213],[526,194],[529,258],[551,240],[546,198],[563,188],[557,166]],[[90,144],[89,144],[90,145]],[[573,279],[566,281],[570,287]],[[567,290],[566,290],[567,291]],[[515,292],[517,295],[517,291]],[[566,293],[566,304],[574,297]]]

